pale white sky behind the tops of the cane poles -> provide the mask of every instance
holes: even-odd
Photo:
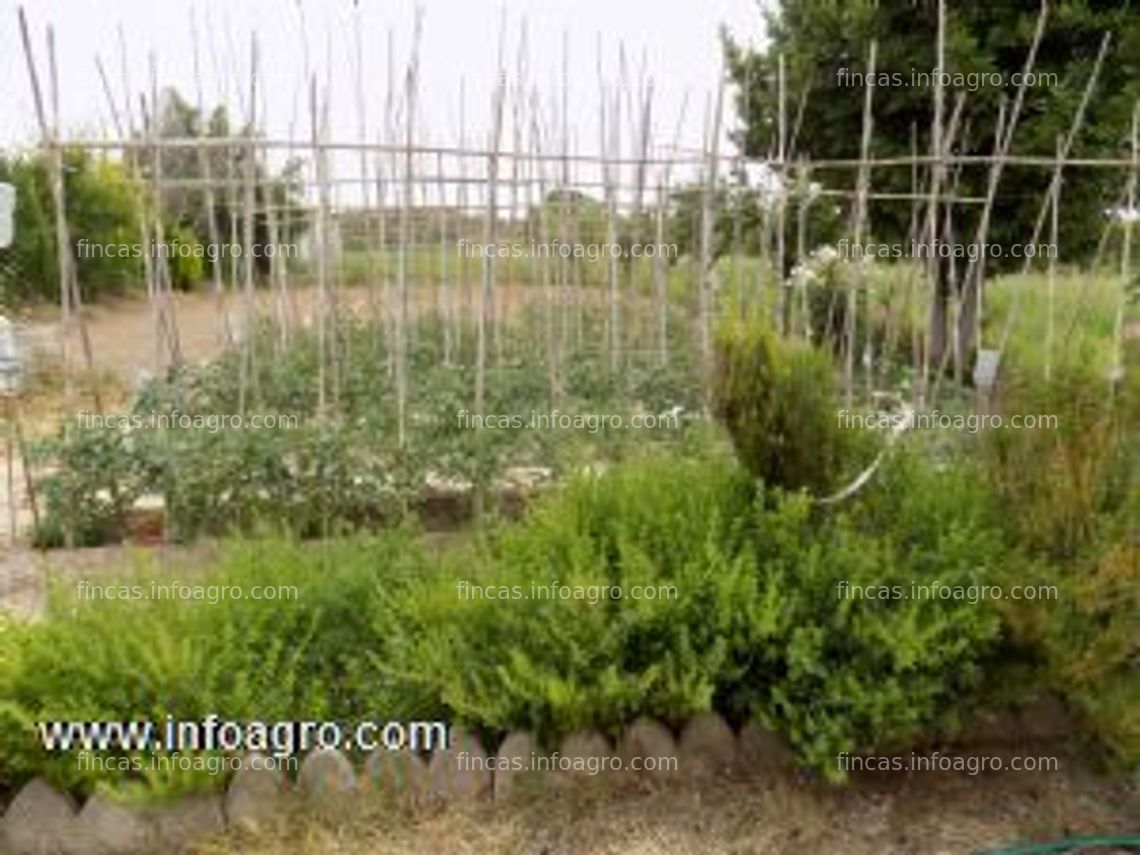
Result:
[[[33,144],[39,130],[21,46],[17,0],[0,0],[0,146]],[[65,132],[112,132],[111,112],[96,71],[103,58],[115,98],[123,100],[119,27],[122,26],[137,112],[138,95],[149,89],[149,55],[157,63],[160,88],[176,85],[192,103],[194,75],[192,21],[197,22],[203,89],[207,104],[220,100],[241,115],[237,91],[249,87],[250,34],[256,32],[269,136],[308,138],[310,124],[303,81],[308,68],[324,81],[331,68],[329,137],[355,141],[357,31],[364,48],[364,85],[369,136],[375,138],[388,90],[388,39],[402,80],[416,7],[423,9],[420,125],[417,137],[454,144],[458,133],[459,83],[466,88],[469,145],[481,145],[490,125],[497,79],[498,32],[506,22],[508,83],[516,75],[520,31],[528,31],[528,88],[537,87],[553,111],[562,78],[563,34],[569,40],[570,127],[583,153],[598,148],[598,39],[603,73],[619,75],[625,47],[636,91],[642,58],[654,85],[654,139],[671,142],[687,92],[683,147],[699,148],[709,100],[722,64],[722,25],[746,43],[763,39],[757,0],[30,0],[25,3],[41,80],[47,81],[46,26],[55,27],[59,64],[60,125]],[[302,34],[307,34],[307,38]],[[307,43],[307,47],[306,47]],[[621,142],[632,156],[628,116]],[[725,129],[731,125],[726,104]],[[510,146],[510,131],[505,145]],[[343,170],[343,162],[334,169]]]

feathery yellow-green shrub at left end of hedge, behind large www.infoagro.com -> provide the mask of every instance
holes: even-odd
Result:
[[[156,798],[223,783],[185,771],[82,768],[75,752],[41,748],[36,722],[440,715],[415,686],[398,685],[365,659],[366,650],[382,656],[386,644],[383,632],[373,634],[368,608],[377,586],[422,569],[399,535],[324,549],[259,539],[230,544],[218,565],[189,583],[242,586],[242,598],[76,601],[71,584],[60,585],[44,619],[0,624],[0,784],[42,774],[73,790]],[[154,563],[139,563],[117,581],[147,592],[169,580]],[[255,585],[294,591],[254,600]]]

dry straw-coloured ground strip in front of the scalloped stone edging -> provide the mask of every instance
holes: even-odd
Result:
[[[1019,749],[1028,751],[1032,749]],[[1135,832],[1137,803],[1076,765],[1048,774],[881,774],[847,788],[773,769],[409,820],[359,815],[234,836],[211,855],[970,855],[1026,840]],[[374,808],[375,813],[375,808]],[[351,814],[350,814],[351,815]],[[1085,849],[1081,849],[1085,852]],[[1113,855],[1113,849],[1097,853]]]

